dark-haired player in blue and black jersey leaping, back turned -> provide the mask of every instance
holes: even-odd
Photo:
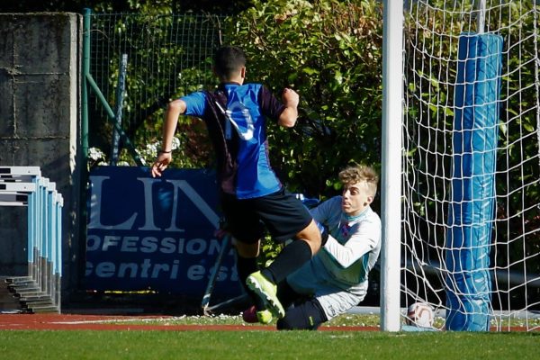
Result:
[[[171,162],[171,147],[180,114],[206,123],[217,157],[221,209],[237,250],[238,277],[257,304],[263,323],[284,317],[276,284],[319,251],[320,229],[310,212],[275,175],[268,156],[266,124],[270,120],[291,128],[298,117],[299,95],[285,88],[282,101],[261,84],[244,84],[246,57],[242,49],[220,48],[214,58],[220,85],[168,104],[162,149],[152,166],[160,176]],[[265,233],[280,242],[293,241],[275,261],[259,270],[257,257]],[[271,315],[270,315],[271,314]]]

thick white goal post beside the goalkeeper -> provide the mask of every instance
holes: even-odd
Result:
[[[399,331],[403,1],[383,4],[383,171],[381,179],[381,329]]]

